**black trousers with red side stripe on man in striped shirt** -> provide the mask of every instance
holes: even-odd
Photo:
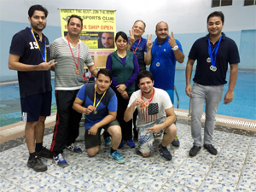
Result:
[[[51,146],[49,148],[54,154],[63,152],[65,146],[75,142],[79,137],[79,123],[81,113],[73,110],[73,102],[79,90],[56,90],[56,123]]]

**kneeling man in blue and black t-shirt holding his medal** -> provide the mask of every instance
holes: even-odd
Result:
[[[84,120],[85,148],[91,157],[99,152],[103,128],[112,136],[110,155],[118,163],[124,163],[125,159],[117,151],[122,134],[119,122],[116,120],[117,97],[109,88],[112,83],[112,73],[108,69],[101,69],[96,78],[96,84],[84,84],[73,102],[73,109],[86,115]]]

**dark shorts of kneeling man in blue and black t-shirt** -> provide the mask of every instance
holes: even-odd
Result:
[[[119,125],[119,122],[117,121],[117,119],[115,119],[112,122],[110,122],[109,124],[103,125],[101,128],[99,128],[98,131],[96,132],[96,135],[88,135],[88,131],[90,129],[85,130],[85,132],[84,132],[85,148],[88,149],[88,148],[93,148],[97,145],[100,145],[102,143],[102,141],[101,141],[102,129],[107,131],[108,128],[113,125]]]

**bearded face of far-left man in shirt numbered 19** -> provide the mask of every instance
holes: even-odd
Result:
[[[46,17],[44,11],[35,10],[32,17],[28,17],[32,30],[42,32],[46,26]]]

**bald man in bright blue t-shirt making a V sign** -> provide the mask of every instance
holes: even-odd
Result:
[[[182,63],[184,60],[183,49],[177,39],[169,35],[169,27],[166,22],[159,22],[155,27],[157,38],[151,49],[152,61],[150,72],[154,76],[154,86],[166,90],[174,103],[174,79],[176,61]],[[175,137],[172,145],[179,146]]]

